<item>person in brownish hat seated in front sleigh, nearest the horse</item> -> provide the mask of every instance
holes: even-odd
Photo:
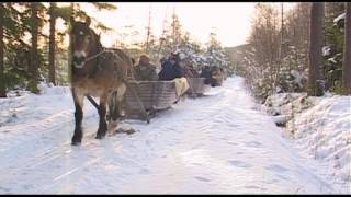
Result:
[[[150,63],[150,58],[147,55],[139,57],[139,63],[134,67],[136,80],[138,81],[157,81],[158,74],[156,66]]]

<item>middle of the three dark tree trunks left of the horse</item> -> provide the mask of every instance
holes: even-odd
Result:
[[[36,2],[31,3],[32,11],[32,24],[31,24],[31,35],[32,35],[32,49],[31,49],[31,67],[30,67],[30,91],[32,93],[39,93],[37,88],[38,83],[38,54],[37,54],[37,36],[38,36],[38,19],[37,19],[37,4]]]

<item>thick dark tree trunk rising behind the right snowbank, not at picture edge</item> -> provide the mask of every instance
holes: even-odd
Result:
[[[309,96],[321,96],[320,84],[321,47],[322,47],[322,21],[325,3],[313,2],[309,23],[309,62],[308,62],[308,90]]]

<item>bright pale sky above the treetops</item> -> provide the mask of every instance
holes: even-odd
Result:
[[[254,11],[254,2],[222,2],[222,3],[186,3],[186,2],[140,2],[115,3],[116,11],[101,12],[91,7],[84,7],[88,13],[113,27],[116,32],[102,34],[102,43],[109,47],[115,43],[118,30],[125,25],[133,25],[139,32],[138,36],[129,39],[146,40],[146,26],[151,10],[151,28],[156,36],[161,35],[163,20],[170,22],[176,9],[183,30],[190,32],[192,38],[201,43],[208,40],[211,32],[217,34],[217,38],[224,47],[237,46],[246,43],[250,33],[251,19]],[[291,7],[292,3],[284,3]],[[129,40],[125,40],[129,42]]]

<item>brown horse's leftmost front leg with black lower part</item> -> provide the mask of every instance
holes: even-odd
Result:
[[[78,92],[75,88],[72,88],[72,95],[73,95],[73,102],[75,102],[75,119],[76,119],[76,128],[75,128],[75,135],[72,137],[72,144],[80,144],[81,139],[83,137],[81,123],[83,119],[83,100],[84,95],[81,92]]]

